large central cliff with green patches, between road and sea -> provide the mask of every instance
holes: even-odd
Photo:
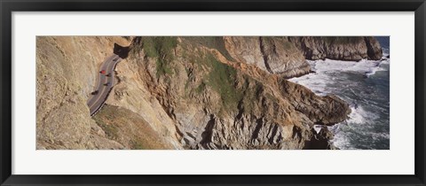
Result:
[[[262,49],[270,53],[269,60],[285,55],[278,52],[284,40],[262,41],[277,48]],[[312,140],[314,124],[346,119],[350,109],[338,97],[318,97],[261,69],[255,61],[263,58],[260,45],[248,44],[260,40],[238,42],[251,48],[228,46],[232,58],[226,58],[217,50],[220,47],[185,37],[135,38],[128,63],[117,66],[123,81],[108,102],[161,120],[154,128],[169,128],[162,131],[169,131],[168,136],[176,137],[185,149],[303,149]],[[255,55],[250,56],[248,49]],[[124,69],[135,70],[121,74]],[[149,103],[143,101],[147,97]],[[146,105],[160,106],[151,114],[139,111]]]

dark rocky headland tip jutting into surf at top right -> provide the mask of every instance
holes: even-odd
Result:
[[[374,37],[369,36],[291,36],[306,59],[378,60],[382,58],[382,48]]]

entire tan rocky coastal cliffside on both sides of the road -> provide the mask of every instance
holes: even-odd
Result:
[[[357,39],[326,44],[324,57],[317,37],[37,37],[37,149],[333,148],[313,126],[345,120],[348,105],[286,78],[310,72],[308,48],[312,59],[381,55],[362,39],[366,54]],[[85,102],[114,43],[130,52],[91,118]]]

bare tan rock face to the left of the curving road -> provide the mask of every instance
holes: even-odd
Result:
[[[37,149],[122,149],[86,105],[98,66],[120,37],[36,38]]]

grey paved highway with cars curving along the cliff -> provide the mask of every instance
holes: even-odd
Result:
[[[91,97],[89,97],[89,100],[87,101],[87,105],[91,111],[91,116],[98,112],[99,109],[102,108],[102,106],[105,104],[109,92],[114,87],[114,68],[121,60],[122,58],[113,54],[112,56],[106,58],[100,66],[100,69],[97,72],[99,77],[96,83],[96,89],[93,90],[93,92],[96,93],[92,93]],[[102,71],[105,71],[105,73],[100,73]]]

